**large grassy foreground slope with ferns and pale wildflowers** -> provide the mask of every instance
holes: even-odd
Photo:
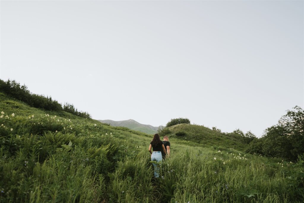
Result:
[[[154,179],[152,135],[36,109],[3,93],[0,112],[0,202],[304,200],[304,161],[172,137],[171,156]]]

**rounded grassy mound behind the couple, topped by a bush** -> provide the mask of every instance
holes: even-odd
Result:
[[[201,125],[177,124],[168,127],[168,135],[181,140],[188,140],[209,146],[221,146],[244,150],[246,143],[238,135],[228,135],[211,130]]]

